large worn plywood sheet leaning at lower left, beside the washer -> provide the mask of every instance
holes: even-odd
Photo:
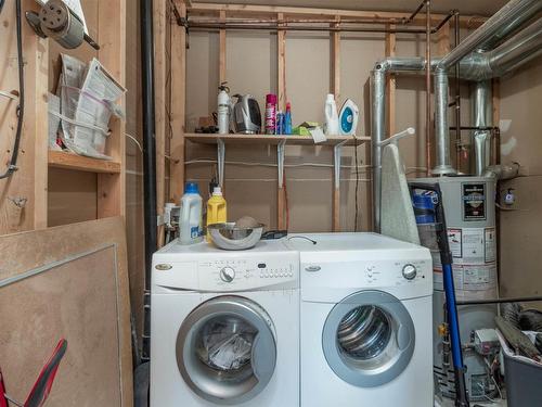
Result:
[[[109,218],[0,238],[0,366],[13,397],[65,338],[49,405],[132,405],[124,230]]]

